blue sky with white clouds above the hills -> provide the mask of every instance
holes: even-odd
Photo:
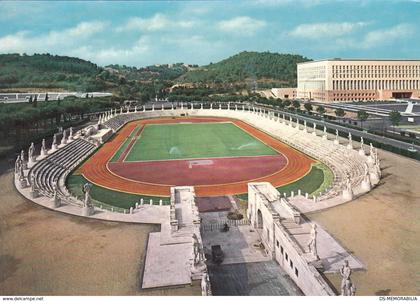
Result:
[[[243,50],[420,59],[420,0],[0,2],[0,53],[208,64]]]

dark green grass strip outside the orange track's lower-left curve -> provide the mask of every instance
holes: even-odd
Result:
[[[82,187],[88,182],[82,175],[72,174],[67,178],[67,188],[69,191],[78,196],[80,199],[83,198]],[[158,205],[159,200],[163,200],[163,204],[169,204],[169,198],[165,197],[154,197],[138,194],[130,194],[125,192],[118,192],[110,189],[106,189],[100,186],[93,184],[91,190],[91,197],[95,200],[94,204],[96,206],[103,205],[104,208],[109,205],[112,207],[118,207],[123,209],[129,209],[133,207],[136,202],[140,203],[140,199],[143,198],[148,204],[149,200],[153,200],[153,204]],[[102,204],[101,204],[102,203]]]

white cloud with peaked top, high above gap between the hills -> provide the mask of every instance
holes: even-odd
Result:
[[[191,20],[174,21],[163,14],[156,14],[151,18],[133,17],[115,30],[124,31],[158,31],[164,29],[191,28],[195,24]]]

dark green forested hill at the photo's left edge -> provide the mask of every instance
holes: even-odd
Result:
[[[102,68],[91,62],[50,54],[0,55],[0,88],[95,90]],[[99,89],[100,90],[100,89]]]

